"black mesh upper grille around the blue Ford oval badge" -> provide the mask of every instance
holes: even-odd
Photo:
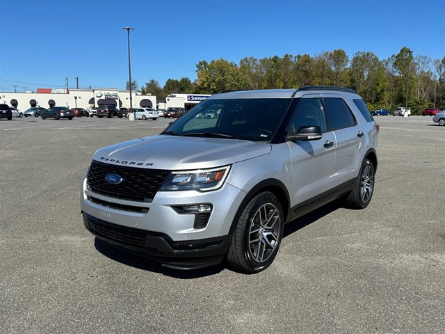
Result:
[[[118,174],[123,180],[119,184],[108,183],[105,180],[108,174]],[[87,185],[91,191],[104,196],[151,202],[167,175],[168,170],[116,166],[92,161]]]

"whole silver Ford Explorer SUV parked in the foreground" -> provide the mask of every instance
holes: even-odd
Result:
[[[273,262],[285,223],[336,198],[369,205],[377,141],[348,88],[219,93],[158,136],[97,150],[82,181],[83,223],[166,267],[227,260],[254,273]]]

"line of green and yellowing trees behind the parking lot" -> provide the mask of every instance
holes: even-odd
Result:
[[[372,52],[358,51],[349,59],[342,49],[257,59],[245,57],[236,64],[223,58],[196,65],[197,79],[168,79],[161,87],[151,79],[140,88],[163,99],[172,93],[214,94],[223,90],[340,86],[353,88],[370,110],[410,106],[414,115],[422,109],[445,109],[445,56],[414,56],[403,47],[398,54],[380,60]],[[127,81],[129,89],[129,81]],[[136,80],[131,89],[138,90]]]

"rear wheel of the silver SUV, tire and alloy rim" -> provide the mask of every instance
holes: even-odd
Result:
[[[374,193],[375,167],[371,160],[364,159],[354,189],[346,197],[352,209],[364,209],[371,202]]]

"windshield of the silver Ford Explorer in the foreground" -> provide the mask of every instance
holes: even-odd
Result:
[[[205,100],[163,134],[270,141],[291,99]]]

